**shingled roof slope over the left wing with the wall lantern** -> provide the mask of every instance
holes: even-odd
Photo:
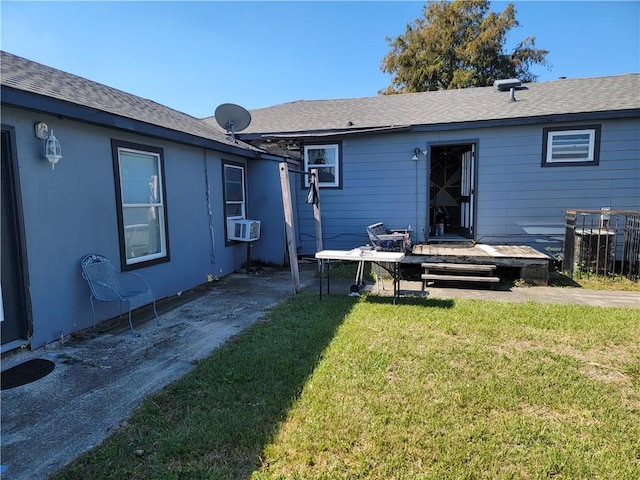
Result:
[[[11,102],[11,95],[8,94],[12,92],[6,90],[9,88],[16,92],[36,94],[65,102],[68,105],[92,109],[93,112],[83,110],[84,118],[82,119],[89,121],[93,119],[96,124],[102,124],[105,121],[106,117],[102,114],[106,113],[125,120],[111,121],[111,126],[121,125],[121,128],[126,128],[127,125],[132,124],[130,120],[135,120],[167,129],[165,134],[169,138],[175,136],[172,132],[178,132],[186,134],[186,137],[180,135],[181,139],[195,137],[226,146],[255,150],[249,145],[230,141],[224,131],[214,128],[196,117],[8,52],[1,52],[0,72],[3,103]],[[37,105],[42,105],[43,109],[46,108],[46,102],[40,101],[36,103]],[[156,131],[158,130],[156,129]]]

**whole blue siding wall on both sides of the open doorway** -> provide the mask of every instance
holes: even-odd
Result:
[[[544,251],[560,246],[566,209],[640,210],[640,120],[582,122],[594,123],[602,125],[597,166],[541,166],[543,128],[581,122],[343,137],[343,188],[320,193],[324,248],[367,243],[366,226],[378,221],[390,228],[410,224],[413,240],[425,241],[429,158],[412,156],[432,145],[477,145],[476,241]],[[301,252],[312,254],[312,212],[300,183],[296,191]]]

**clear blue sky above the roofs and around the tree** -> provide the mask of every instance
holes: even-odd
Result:
[[[538,81],[640,72],[640,0],[513,3],[505,49],[536,37],[550,64],[531,69]],[[378,95],[387,38],[425,4],[2,0],[0,48],[203,118],[222,103]]]

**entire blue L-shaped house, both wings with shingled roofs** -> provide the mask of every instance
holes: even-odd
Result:
[[[318,170],[328,249],[367,243],[384,222],[414,242],[544,251],[560,247],[566,210],[640,210],[639,74],[291,102],[251,111],[229,136],[10,53],[0,67],[3,352],[91,326],[89,253],[158,299],[248,259],[286,263],[284,161]],[[44,155],[54,136],[61,159]],[[316,249],[308,181],[290,177],[299,255]],[[231,238],[239,219],[261,222],[259,241]]]

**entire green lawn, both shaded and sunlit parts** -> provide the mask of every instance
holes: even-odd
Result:
[[[640,478],[640,309],[300,294],[54,478]]]

